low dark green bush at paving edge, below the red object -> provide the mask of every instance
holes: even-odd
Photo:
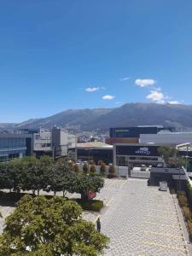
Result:
[[[103,201],[101,200],[76,200],[79,205],[83,208],[85,211],[93,211],[93,212],[100,212],[102,207],[104,207]]]

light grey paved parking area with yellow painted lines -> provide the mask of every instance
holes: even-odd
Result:
[[[84,212],[83,217],[96,222],[100,216],[102,232],[110,237],[104,255],[191,255],[175,195],[148,187],[144,179],[106,179],[96,199],[103,200],[106,207],[100,214]],[[0,207],[3,216],[11,210]],[[1,220],[0,228],[2,224]]]

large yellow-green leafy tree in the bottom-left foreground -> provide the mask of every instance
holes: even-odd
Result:
[[[102,253],[108,237],[81,217],[74,201],[25,195],[6,218],[0,255],[87,255]]]

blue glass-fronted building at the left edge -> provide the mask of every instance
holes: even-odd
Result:
[[[0,162],[32,155],[32,135],[0,133]]]

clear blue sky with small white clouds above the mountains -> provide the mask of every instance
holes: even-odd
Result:
[[[191,0],[0,2],[0,122],[192,104]]]

